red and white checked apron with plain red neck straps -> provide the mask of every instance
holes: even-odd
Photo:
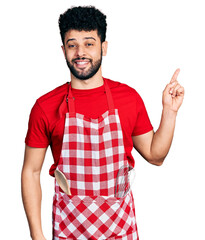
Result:
[[[67,195],[55,180],[53,240],[138,240],[131,191],[115,197],[119,169],[128,164],[118,110],[104,79],[108,111],[97,119],[75,112],[68,88],[65,129],[57,169],[68,180]]]

